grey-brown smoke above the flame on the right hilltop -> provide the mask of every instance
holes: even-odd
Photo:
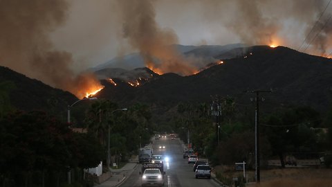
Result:
[[[206,20],[225,26],[246,44],[284,45],[317,55],[326,55],[332,44],[329,1],[207,0],[201,6]]]

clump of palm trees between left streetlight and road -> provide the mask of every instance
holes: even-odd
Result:
[[[113,155],[112,162],[119,160],[120,155],[136,152],[139,142],[147,143],[154,131],[147,105],[137,103],[126,111],[120,108],[110,100],[98,100],[91,104],[84,120],[87,130]]]

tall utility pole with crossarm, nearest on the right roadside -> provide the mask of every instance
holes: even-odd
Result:
[[[256,165],[256,182],[261,181],[259,169],[259,93],[272,92],[272,90],[252,90],[247,93],[256,93],[256,110],[255,110],[255,165]]]

